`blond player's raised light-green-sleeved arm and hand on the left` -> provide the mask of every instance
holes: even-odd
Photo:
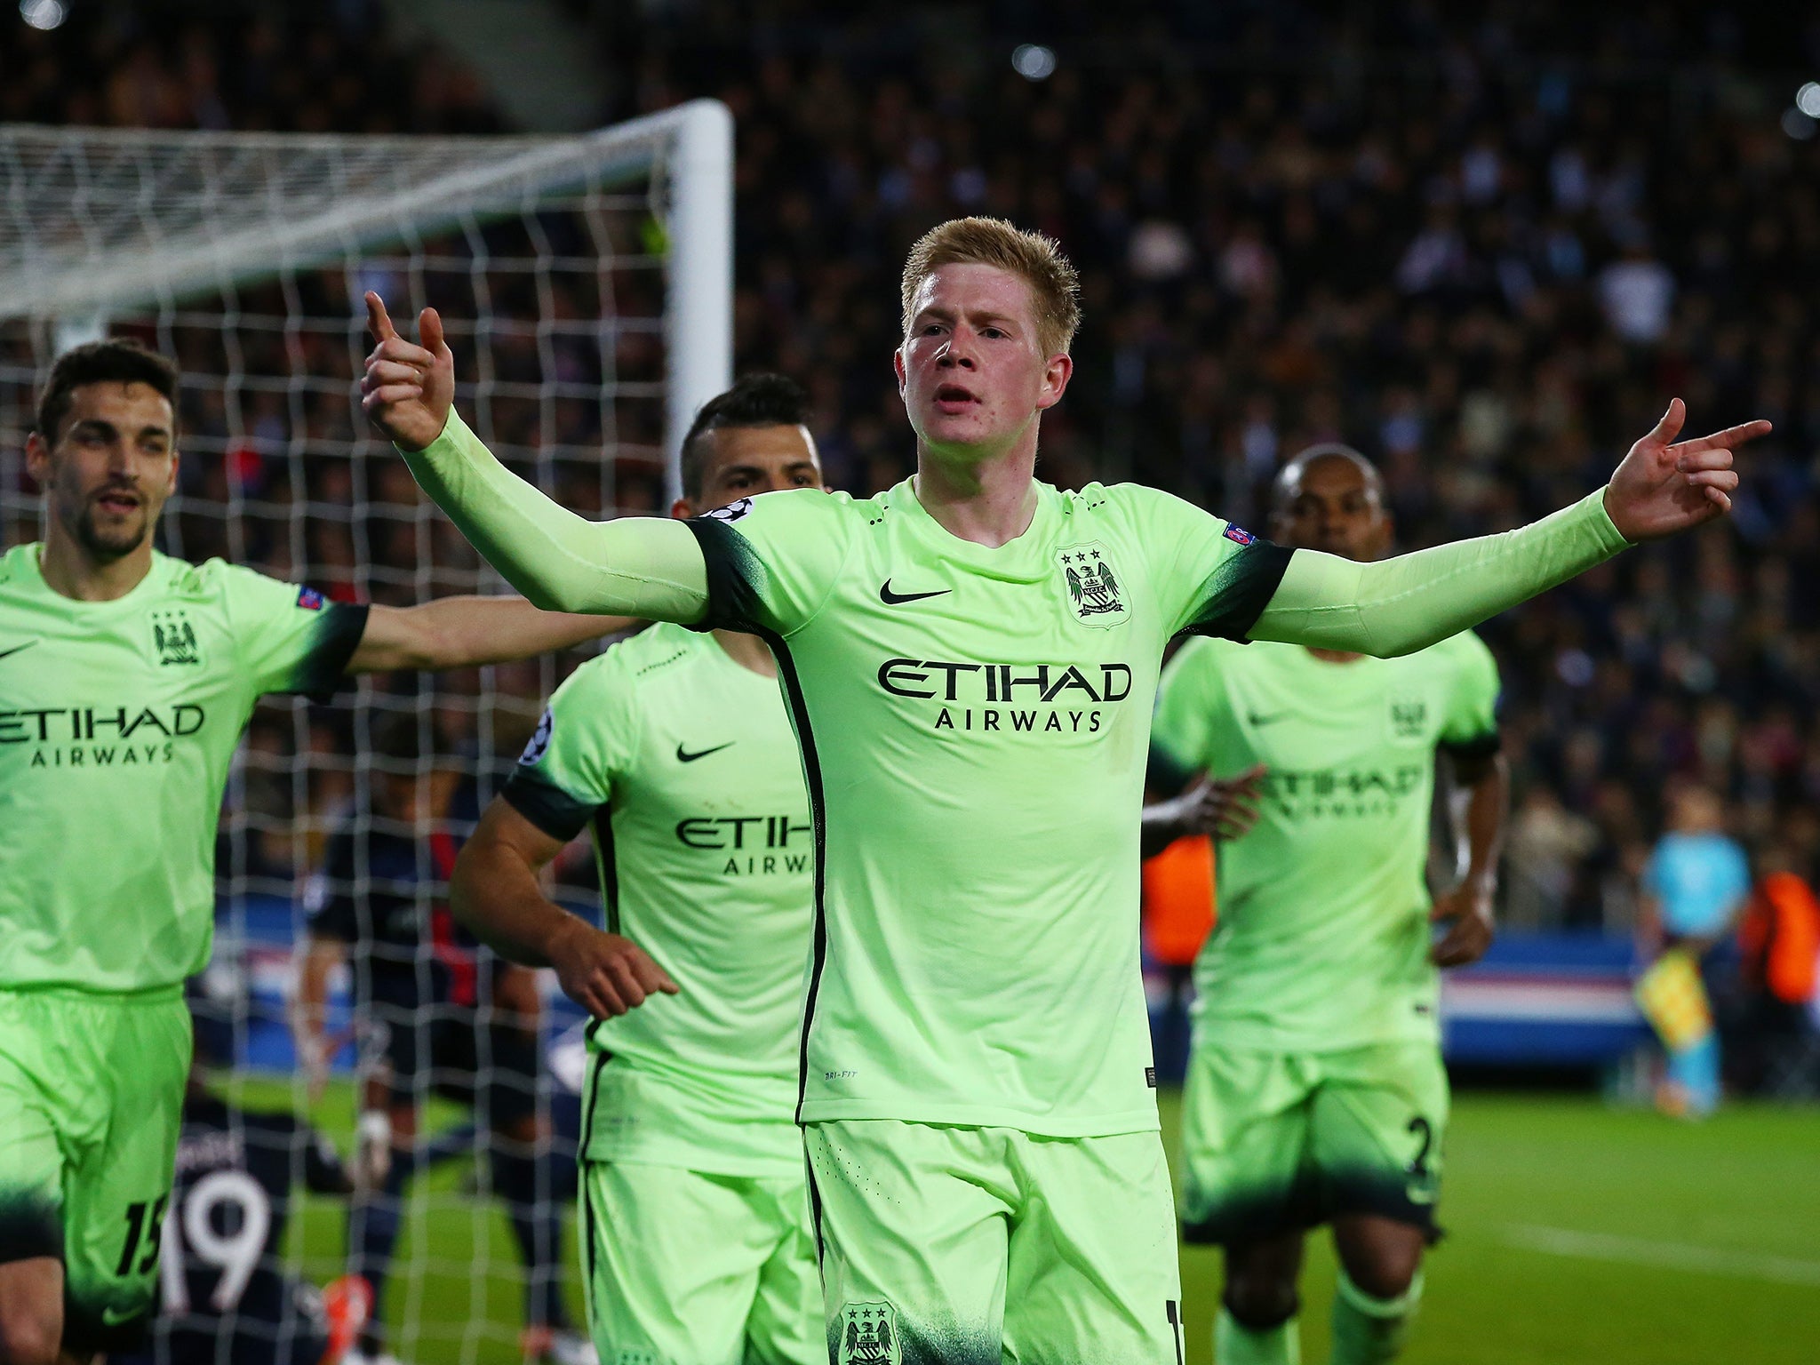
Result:
[[[366,295],[379,342],[360,406],[391,437],[437,506],[506,581],[551,612],[595,612],[695,624],[708,610],[708,568],[693,533],[668,517],[593,522],[506,470],[455,411],[455,357],[442,318],[417,318],[404,340],[377,293]]]

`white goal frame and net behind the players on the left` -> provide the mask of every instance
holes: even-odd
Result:
[[[400,329],[426,304],[442,311],[457,402],[510,466],[590,517],[661,511],[688,420],[732,379],[730,116],[697,102],[575,138],[0,127],[0,548],[42,533],[24,446],[51,360],[116,335],[184,373],[167,553],[220,555],[340,601],[506,592],[360,411],[366,289]],[[222,810],[215,959],[191,985],[200,1050],[226,1068],[217,1088],[246,1108],[308,1117],[353,1154],[362,1043],[368,1061],[377,1056],[349,1017],[357,968],[329,977],[340,1046],[320,1094],[288,1028],[306,888],[315,877],[318,899],[366,905],[366,844],[355,841],[355,874],[331,886],[326,850],[349,830],[404,834],[420,850],[410,894],[419,977],[430,981],[433,963],[462,976],[437,850],[471,826],[542,699],[582,657],[368,677],[329,704],[260,704]],[[402,766],[375,757],[377,735],[410,732]],[[404,826],[384,808],[384,774],[415,779]],[[579,852],[559,861],[559,892],[595,914],[592,859]],[[484,957],[471,976],[484,1019],[497,977]],[[551,981],[537,985],[551,1061],[539,1108],[555,1136],[533,1163],[535,1198],[566,1208],[581,1017]],[[497,1077],[477,1036],[477,1076],[451,1074],[439,1056],[410,1081],[422,1099],[420,1168],[397,1203],[380,1314],[386,1347],[408,1363],[522,1358],[530,1272],[495,1188]],[[431,1094],[446,1081],[468,1081],[477,1101]],[[271,1252],[284,1274],[322,1285],[348,1267],[348,1201],[304,1196],[297,1152],[297,1198]],[[238,1263],[262,1252],[262,1219],[209,1208],[186,1223],[173,1208],[167,1261],[200,1256],[222,1267],[224,1285],[244,1283]],[[189,1245],[186,1225],[207,1232]],[[577,1314],[571,1228],[555,1265]]]

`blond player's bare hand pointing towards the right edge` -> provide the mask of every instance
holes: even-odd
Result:
[[[1674,535],[1731,511],[1738,488],[1731,453],[1769,435],[1769,422],[1756,420],[1676,444],[1685,420],[1687,406],[1671,399],[1656,430],[1631,446],[1605,486],[1605,513],[1625,541]]]

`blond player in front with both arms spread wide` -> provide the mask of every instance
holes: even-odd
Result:
[[[1076,278],[986,218],[903,278],[917,475],[593,524],[510,475],[377,298],[366,406],[531,601],[746,630],[779,659],[819,826],[797,1117],[839,1365],[1178,1360],[1179,1278],[1138,970],[1163,644],[1194,632],[1410,652],[1716,517],[1736,428],[1507,535],[1376,564],[1283,550],[1179,499],[1034,479]]]

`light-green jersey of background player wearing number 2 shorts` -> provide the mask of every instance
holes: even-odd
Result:
[[[1183,768],[1265,766],[1258,824],[1218,854],[1198,1023],[1279,1052],[1436,1039],[1429,961],[1434,750],[1498,746],[1498,666],[1471,632],[1401,659],[1188,641],[1156,743]]]

